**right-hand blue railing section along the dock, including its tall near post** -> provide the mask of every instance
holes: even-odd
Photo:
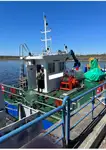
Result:
[[[102,87],[104,88],[103,91],[101,91],[99,94],[97,94],[96,90]],[[80,108],[78,108],[76,111],[73,112],[73,109],[70,111],[70,107],[72,108],[72,104],[73,103],[77,103],[77,101],[79,101],[79,99],[81,99],[82,97],[86,96],[87,94],[92,92],[92,97],[90,97],[90,99],[88,99],[88,101],[82,105]],[[100,97],[102,94],[104,94],[104,98],[102,98],[95,106],[95,100]],[[104,106],[106,104],[106,81],[90,90],[88,90],[87,92],[84,92],[83,94],[73,98],[73,99],[69,99],[67,101],[67,115],[66,115],[66,143],[67,145],[69,144],[70,138],[71,138],[71,131],[77,126],[79,125],[79,123],[81,123],[86,117],[88,117],[90,114],[92,114],[92,120],[94,119],[94,111],[95,109],[104,101]],[[76,120],[76,122],[72,125],[72,117],[74,117],[76,114],[78,114],[82,109],[84,109],[85,107],[87,107],[89,104],[91,104],[91,110],[89,112],[87,112],[83,117],[79,118],[79,120]],[[72,126],[71,126],[72,125]],[[71,127],[70,127],[71,126]]]

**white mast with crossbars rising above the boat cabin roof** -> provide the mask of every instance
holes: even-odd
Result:
[[[45,43],[45,52],[49,53],[50,52],[50,48],[48,47],[48,41],[51,41],[51,38],[47,38],[47,33],[51,32],[51,29],[47,30],[48,27],[48,23],[46,21],[46,16],[43,15],[43,19],[44,19],[44,31],[41,31],[41,33],[43,33],[45,36],[44,39],[41,39],[41,41],[43,41]]]

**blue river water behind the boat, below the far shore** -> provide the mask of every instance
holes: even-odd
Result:
[[[84,69],[88,62],[81,62],[81,68]],[[15,84],[19,79],[20,61],[8,60],[0,61],[0,83]],[[74,62],[68,62],[68,68],[73,66]],[[106,62],[99,62],[100,66],[104,68]]]

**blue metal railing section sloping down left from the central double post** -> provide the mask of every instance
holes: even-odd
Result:
[[[53,110],[51,110],[50,112],[44,114],[44,115],[41,115],[40,117],[34,119],[33,121],[31,122],[28,122],[27,124],[25,125],[22,125],[21,127],[11,131],[10,133],[7,133],[6,135],[0,137],[0,145],[2,143],[5,144],[5,141],[8,140],[9,138],[13,137],[13,136],[16,136],[17,134],[19,134],[20,132],[23,132],[25,131],[26,129],[30,128],[31,126],[33,126],[34,124],[48,118],[49,116],[55,114],[56,112],[60,111],[60,110],[63,110],[63,112],[65,112],[65,107],[66,107],[66,101],[67,101],[67,98],[68,97],[65,97],[64,100],[63,100],[63,105],[59,106],[58,108],[55,108]],[[62,126],[61,128],[61,137],[59,137],[56,141],[55,141],[55,144],[59,143],[60,141],[62,141],[62,144],[63,144],[63,147],[65,147],[66,143],[65,143],[65,113],[62,114],[62,119],[56,123],[56,125],[54,124],[53,125],[53,128],[51,128],[50,130],[47,130],[46,133],[42,134],[43,137],[49,135],[51,132],[53,132],[54,130],[56,130],[58,127]],[[9,146],[9,145],[8,145]]]

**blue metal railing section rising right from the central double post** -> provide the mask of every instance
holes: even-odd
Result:
[[[98,98],[99,96],[101,96],[103,93],[106,92],[106,90],[104,89],[102,92],[100,92],[99,94],[96,94],[94,95],[94,90],[96,90],[97,88],[101,87],[101,86],[104,86],[106,84],[106,81],[90,90],[88,90],[87,92],[84,92],[83,94],[73,98],[73,99],[70,99],[67,103],[67,124],[66,124],[66,132],[67,132],[67,137],[66,137],[66,141],[67,141],[67,144],[69,144],[69,140],[70,140],[70,131],[72,129],[74,129],[81,121],[83,121],[87,116],[89,116],[91,113],[92,113],[92,120],[93,120],[93,112],[94,110],[104,101],[104,99],[102,99],[99,103],[96,104],[96,106],[94,106],[94,103],[95,103],[95,99]],[[71,111],[70,113],[70,106],[73,102],[77,102],[81,97],[87,95],[88,93],[90,92],[93,92],[93,95],[92,95],[92,98],[91,100],[88,100],[88,102],[86,102],[82,107],[80,107],[79,109],[76,110],[76,112],[73,112],[73,110]],[[76,120],[76,123],[74,123],[73,126],[71,126],[70,128],[70,119],[76,115],[79,111],[81,111],[83,108],[85,108],[86,106],[88,106],[89,104],[92,104],[92,108],[91,110],[86,113],[86,115],[84,115],[83,117],[79,118],[79,120]],[[106,97],[105,97],[105,104],[106,104]]]

